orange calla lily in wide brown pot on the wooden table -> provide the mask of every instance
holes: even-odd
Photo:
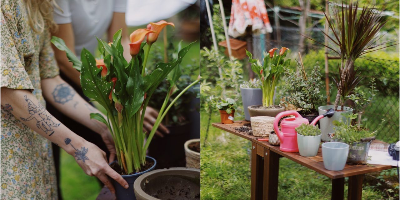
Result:
[[[248,107],[250,117],[275,117],[278,113],[285,110],[284,106],[274,105],[274,94],[280,75],[283,74],[286,67],[290,64],[290,59],[284,60],[289,49],[282,47],[278,55],[274,53],[276,50],[278,48],[269,50],[268,54],[264,53],[263,64],[260,63],[260,60],[253,59],[253,55],[246,50],[253,72],[260,77],[262,90],[262,104]]]

